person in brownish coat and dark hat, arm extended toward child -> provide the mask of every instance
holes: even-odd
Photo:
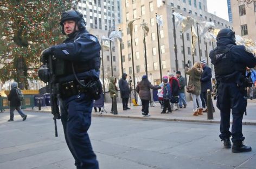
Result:
[[[139,98],[142,100],[142,115],[146,116],[149,114],[149,100],[150,89],[161,89],[160,86],[153,86],[148,80],[148,76],[143,75],[142,81],[140,81],[136,87],[136,92],[139,94]]]

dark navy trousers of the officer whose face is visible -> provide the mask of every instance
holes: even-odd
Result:
[[[87,133],[91,125],[93,99],[87,94],[73,95],[61,100],[61,122],[65,139],[78,169],[98,169]]]

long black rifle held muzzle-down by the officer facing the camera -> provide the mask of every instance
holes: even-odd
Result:
[[[56,83],[56,75],[54,71],[53,62],[56,59],[54,55],[49,55],[47,60],[47,68],[49,70],[49,82],[48,91],[50,93],[50,106],[52,108],[54,127],[55,127],[55,137],[58,137],[57,133],[57,122],[56,119],[60,119],[60,109],[57,105],[57,99],[60,98],[59,84]]]

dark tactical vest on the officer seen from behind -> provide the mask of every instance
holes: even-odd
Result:
[[[233,44],[228,44],[226,47],[217,47],[214,49],[214,70],[216,76],[225,77],[235,72],[244,72],[244,66],[241,63],[234,62],[232,54],[229,52]]]

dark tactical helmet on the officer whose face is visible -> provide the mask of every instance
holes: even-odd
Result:
[[[84,20],[84,16],[79,11],[68,10],[68,11],[63,12],[60,17],[60,25],[61,25],[62,34],[65,34],[63,23],[67,20],[74,20],[76,25],[78,25],[79,30],[85,29],[86,23]]]

